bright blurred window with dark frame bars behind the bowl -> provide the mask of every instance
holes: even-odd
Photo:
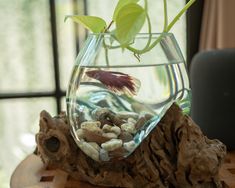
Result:
[[[39,114],[66,110],[65,94],[87,32],[68,14],[103,17],[118,0],[0,0],[0,187],[8,188],[17,164],[35,149]],[[168,1],[169,21],[185,0]],[[163,2],[149,0],[153,32],[163,29]],[[145,28],[143,32],[145,32]],[[186,19],[172,32],[186,58]]]

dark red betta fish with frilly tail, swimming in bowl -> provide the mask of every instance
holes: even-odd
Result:
[[[90,78],[99,80],[109,90],[119,95],[136,95],[140,88],[140,81],[128,74],[104,70],[87,71],[86,75]]]

